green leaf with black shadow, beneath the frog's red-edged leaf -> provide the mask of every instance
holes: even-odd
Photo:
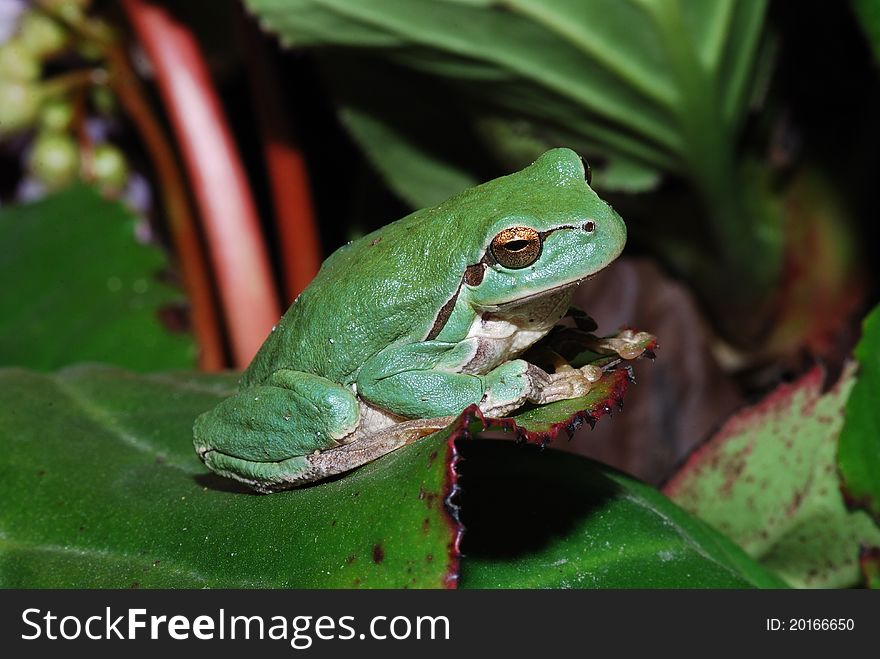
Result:
[[[459,448],[462,588],[785,587],[720,533],[613,469],[505,442]]]

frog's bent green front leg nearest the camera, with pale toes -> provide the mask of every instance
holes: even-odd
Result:
[[[424,341],[392,346],[361,370],[358,395],[409,418],[455,415],[476,403],[488,416],[503,416],[527,402],[549,403],[576,395],[555,375],[522,359],[504,362],[483,375],[458,372],[474,344]]]

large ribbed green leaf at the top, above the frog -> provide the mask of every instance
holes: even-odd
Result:
[[[590,157],[625,158],[711,186],[729,174],[721,169],[746,109],[766,8],[742,0],[246,4],[286,45],[372,49],[531,122],[538,136],[558,139],[562,127],[572,146],[589,145]],[[388,82],[378,94],[405,108],[405,88],[397,94]],[[438,128],[426,122],[424,131]]]

